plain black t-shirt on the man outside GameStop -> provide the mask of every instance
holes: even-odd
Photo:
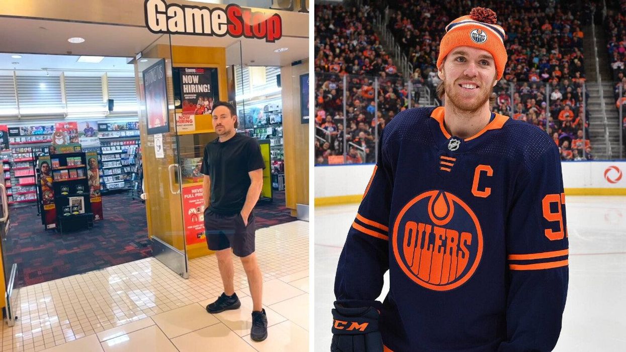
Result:
[[[215,141],[204,147],[202,173],[211,178],[213,213],[237,214],[244,208],[250,188],[250,171],[265,169],[259,143],[253,138],[235,134],[228,141]]]

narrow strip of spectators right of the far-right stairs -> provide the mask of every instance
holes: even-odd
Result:
[[[610,5],[613,11],[608,14],[606,21],[608,58],[615,82],[615,107],[622,108],[622,133],[626,137],[626,0],[613,1]],[[622,141],[626,146],[626,138]]]

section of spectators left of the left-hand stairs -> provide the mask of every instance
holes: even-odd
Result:
[[[373,21],[368,6],[316,6],[316,164],[342,156],[344,148],[346,163],[374,163],[376,133],[408,106],[408,89]]]

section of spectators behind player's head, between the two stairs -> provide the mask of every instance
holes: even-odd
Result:
[[[584,33],[580,28],[582,19],[591,21],[592,8],[585,6],[580,11],[574,4],[553,0],[480,4],[496,12],[498,24],[506,31],[508,62],[494,88],[492,110],[540,126],[551,136],[556,134],[563,159],[580,159],[583,149],[585,157],[592,158],[588,141],[582,143],[578,138],[587,123]],[[389,30],[413,64],[413,79],[434,91],[441,82],[436,61],[445,27],[475,5],[466,0],[402,0],[389,2],[389,6],[393,9]]]

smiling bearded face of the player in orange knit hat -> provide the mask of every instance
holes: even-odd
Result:
[[[476,111],[489,101],[496,84],[496,65],[483,49],[459,46],[454,48],[439,71],[446,88],[446,103],[463,111]]]

